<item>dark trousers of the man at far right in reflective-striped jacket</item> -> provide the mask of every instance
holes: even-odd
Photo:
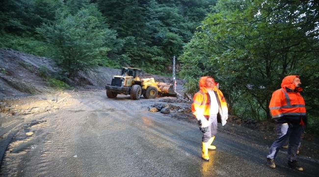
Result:
[[[289,127],[288,123],[279,123],[276,125],[276,129],[277,139],[269,148],[267,158],[276,158],[279,149],[289,140],[287,149],[288,160],[296,160],[303,126],[294,125],[293,127]]]

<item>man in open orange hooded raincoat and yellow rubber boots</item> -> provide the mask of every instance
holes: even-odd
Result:
[[[228,108],[223,93],[217,88],[212,77],[201,77],[199,89],[194,95],[191,110],[198,120],[199,129],[203,132],[202,158],[209,160],[208,149],[216,149],[212,143],[217,133],[217,122],[225,125]]]

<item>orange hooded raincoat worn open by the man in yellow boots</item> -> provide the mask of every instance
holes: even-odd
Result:
[[[207,119],[210,118],[210,105],[211,105],[211,100],[210,100],[210,95],[208,94],[207,88],[205,87],[206,79],[209,78],[210,76],[204,76],[201,77],[199,80],[199,92],[195,93],[194,98],[193,98],[193,103],[191,105],[191,110],[193,115],[197,119],[201,117],[205,117]],[[212,77],[210,77],[212,78]],[[213,78],[212,78],[213,79]],[[213,80],[214,82],[214,80]],[[228,116],[228,108],[227,108],[227,103],[226,100],[223,96],[223,93],[217,89],[215,83],[213,86],[213,92],[216,95],[217,103],[219,106],[219,111],[217,115],[217,122],[222,123],[223,125],[226,123],[226,120],[223,120],[222,118],[224,116]]]

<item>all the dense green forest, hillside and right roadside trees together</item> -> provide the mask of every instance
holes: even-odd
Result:
[[[315,133],[318,25],[316,0],[0,1],[0,47],[50,57],[67,78],[98,65],[163,75],[177,56],[186,93],[210,75],[231,114],[269,120],[271,93],[299,75]]]

